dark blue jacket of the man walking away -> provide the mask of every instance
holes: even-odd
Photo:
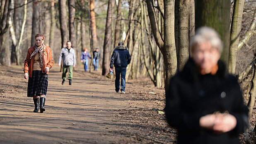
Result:
[[[130,53],[126,46],[116,46],[111,56],[110,68],[127,67],[130,63]]]

